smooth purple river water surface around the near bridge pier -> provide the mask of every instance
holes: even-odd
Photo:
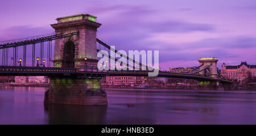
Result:
[[[46,90],[0,87],[0,124],[256,124],[256,91],[115,89],[108,105],[81,106],[44,105]]]

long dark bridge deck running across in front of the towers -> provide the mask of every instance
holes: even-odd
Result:
[[[0,66],[0,76],[148,76],[151,71],[77,71],[74,68],[60,67],[24,67],[24,66]],[[219,81],[232,83],[229,80],[210,78],[207,76],[192,75],[187,73],[170,73],[159,71],[159,77],[186,78],[203,81]]]

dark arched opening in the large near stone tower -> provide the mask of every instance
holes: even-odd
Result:
[[[75,44],[73,41],[68,40],[64,44],[63,52],[63,65],[62,67],[73,68],[75,67]]]

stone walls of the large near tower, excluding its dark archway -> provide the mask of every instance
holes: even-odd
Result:
[[[83,67],[85,65],[85,57],[92,60],[97,59],[96,35],[97,28],[100,27],[101,24],[86,18],[76,20],[76,15],[73,17],[71,16],[70,18],[74,18],[75,20],[71,19],[67,22],[51,24],[57,35],[79,32],[79,35],[56,40],[53,66],[65,67],[63,65],[65,56],[64,45],[67,41],[72,41],[75,45],[75,58],[73,60],[75,62],[75,68],[77,71],[83,71]],[[92,61],[90,63],[92,63]],[[93,62],[91,65],[96,66],[97,62]]]

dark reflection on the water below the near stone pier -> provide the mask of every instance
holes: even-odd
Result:
[[[103,124],[106,109],[106,105],[44,105],[44,110],[48,115],[48,124]]]

